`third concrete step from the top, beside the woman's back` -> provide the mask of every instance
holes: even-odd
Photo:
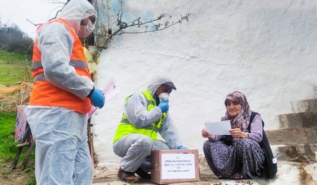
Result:
[[[270,145],[317,143],[317,126],[265,131]]]

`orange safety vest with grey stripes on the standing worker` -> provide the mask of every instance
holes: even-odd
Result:
[[[45,24],[49,24],[52,22],[60,22],[64,24],[71,36],[75,39],[73,49],[71,51],[69,65],[75,68],[75,71],[78,75],[87,76],[91,79],[88,70],[88,64],[85,59],[83,46],[77,34],[65,21],[59,18]],[[41,26],[37,28],[37,31],[41,28]],[[89,112],[89,105],[91,104],[89,98],[81,99],[72,93],[69,93],[54,86],[51,82],[46,80],[44,76],[43,65],[41,62],[42,54],[41,51],[38,49],[37,44],[38,42],[36,39],[34,43],[32,59],[32,76],[34,77],[34,88],[31,93],[29,105],[64,107],[70,110],[77,111],[79,113]]]

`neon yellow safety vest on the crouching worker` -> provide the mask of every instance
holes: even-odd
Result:
[[[141,92],[141,94],[143,94],[143,96],[145,97],[147,101],[147,107],[148,107],[147,111],[150,111],[151,109],[156,107],[155,101],[148,91],[143,91]],[[125,101],[127,101],[127,99],[129,99],[131,96],[132,95],[128,96],[125,99]],[[162,113],[162,116],[159,118],[157,122],[151,123],[150,125],[142,127],[142,128],[136,128],[129,122],[126,115],[123,114],[122,119],[117,128],[116,134],[114,136],[113,143],[116,142],[121,137],[127,134],[132,134],[132,133],[144,134],[146,136],[151,137],[153,141],[156,141],[158,137],[158,131],[161,126],[161,122],[165,117],[166,117],[166,113]]]

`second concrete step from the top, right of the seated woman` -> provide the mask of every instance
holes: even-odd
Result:
[[[278,115],[279,128],[302,128],[317,126],[317,111]]]

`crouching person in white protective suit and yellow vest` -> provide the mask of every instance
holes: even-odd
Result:
[[[168,98],[174,83],[164,76],[156,76],[148,90],[125,99],[124,113],[117,128],[113,151],[122,157],[118,178],[138,182],[150,179],[150,153],[159,149],[188,149],[183,147],[176,127],[168,114]],[[165,140],[157,140],[157,133]]]

